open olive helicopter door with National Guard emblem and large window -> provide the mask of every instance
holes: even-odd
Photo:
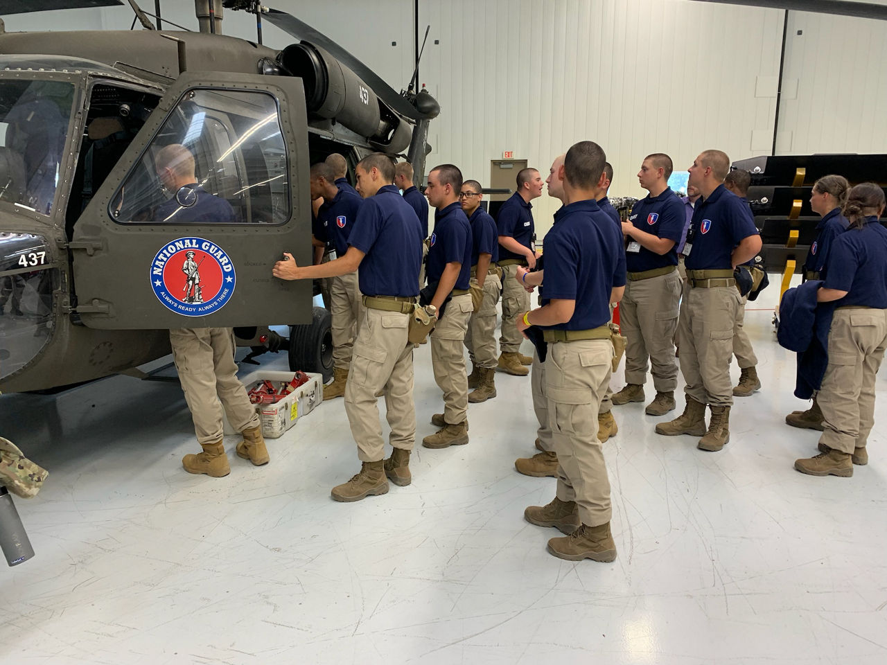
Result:
[[[92,328],[300,324],[311,285],[302,80],[185,72],[75,223],[76,312]]]

